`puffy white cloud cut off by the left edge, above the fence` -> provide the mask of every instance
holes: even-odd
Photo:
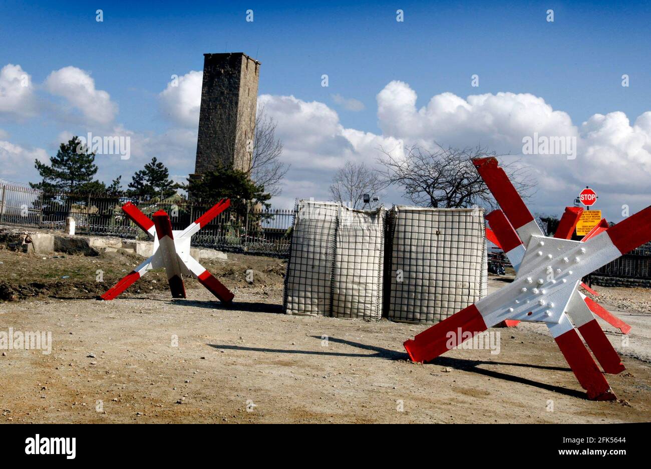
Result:
[[[0,70],[0,115],[27,118],[36,114],[32,77],[20,65],[7,64]]]

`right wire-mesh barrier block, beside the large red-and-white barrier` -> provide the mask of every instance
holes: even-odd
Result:
[[[390,320],[439,322],[486,296],[484,209],[397,205],[387,233],[385,312]]]

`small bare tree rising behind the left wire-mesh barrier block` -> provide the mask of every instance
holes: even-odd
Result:
[[[351,202],[353,209],[363,205],[364,194],[378,195],[387,183],[378,171],[366,164],[347,162],[337,170],[332,179],[330,194],[337,202]]]

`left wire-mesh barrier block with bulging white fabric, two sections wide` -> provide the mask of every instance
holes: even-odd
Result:
[[[298,203],[285,277],[288,314],[379,320],[382,305],[383,208]]]

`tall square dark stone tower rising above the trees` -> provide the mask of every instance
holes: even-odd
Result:
[[[204,54],[197,162],[191,178],[217,162],[248,171],[260,62],[242,52]]]

